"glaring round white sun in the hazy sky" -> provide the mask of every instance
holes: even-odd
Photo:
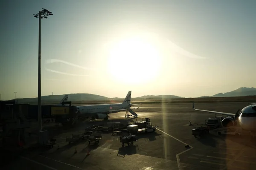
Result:
[[[159,73],[159,53],[145,38],[126,38],[113,44],[112,47],[108,59],[108,71],[117,81],[145,83]]]

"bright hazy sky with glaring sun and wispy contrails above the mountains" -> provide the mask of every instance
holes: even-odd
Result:
[[[255,0],[1,0],[1,100],[212,96],[256,87]]]

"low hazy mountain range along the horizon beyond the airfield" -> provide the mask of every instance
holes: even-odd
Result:
[[[215,94],[213,96],[201,96],[199,98],[206,98],[206,97],[235,97],[235,96],[256,96],[256,88],[238,88],[234,91],[230,91],[227,93],[219,93]],[[61,99],[64,97],[63,95],[49,95],[49,96],[42,96],[42,102],[56,102],[59,103]],[[134,97],[133,100],[136,99],[178,99],[183,98],[180,96],[174,96],[174,95],[146,95],[141,97]],[[109,98],[105,96],[100,96],[96,94],[69,94],[68,101],[72,102],[78,102],[78,101],[93,101],[93,100],[122,100],[124,98],[114,97]],[[35,103],[37,102],[37,98],[23,98],[23,99],[16,99],[18,103]]]

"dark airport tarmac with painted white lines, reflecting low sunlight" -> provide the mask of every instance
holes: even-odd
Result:
[[[195,103],[195,108],[236,113],[247,103]],[[84,132],[85,127],[107,122],[78,122],[71,129],[43,124],[57,144],[51,148],[1,151],[3,168],[19,170],[254,170],[256,145],[248,137],[218,136],[210,132],[202,138],[192,135],[192,123],[204,123],[215,114],[194,111],[191,104],[145,104],[137,120],[149,117],[158,125],[155,133],[138,135],[134,146],[122,147],[119,136],[102,133],[98,145],[79,140],[68,144],[65,138]],[[125,118],[125,112],[112,113],[108,122],[136,121]],[[121,134],[124,135],[124,134]],[[189,147],[187,147],[187,145]],[[75,153],[77,151],[77,153]]]

